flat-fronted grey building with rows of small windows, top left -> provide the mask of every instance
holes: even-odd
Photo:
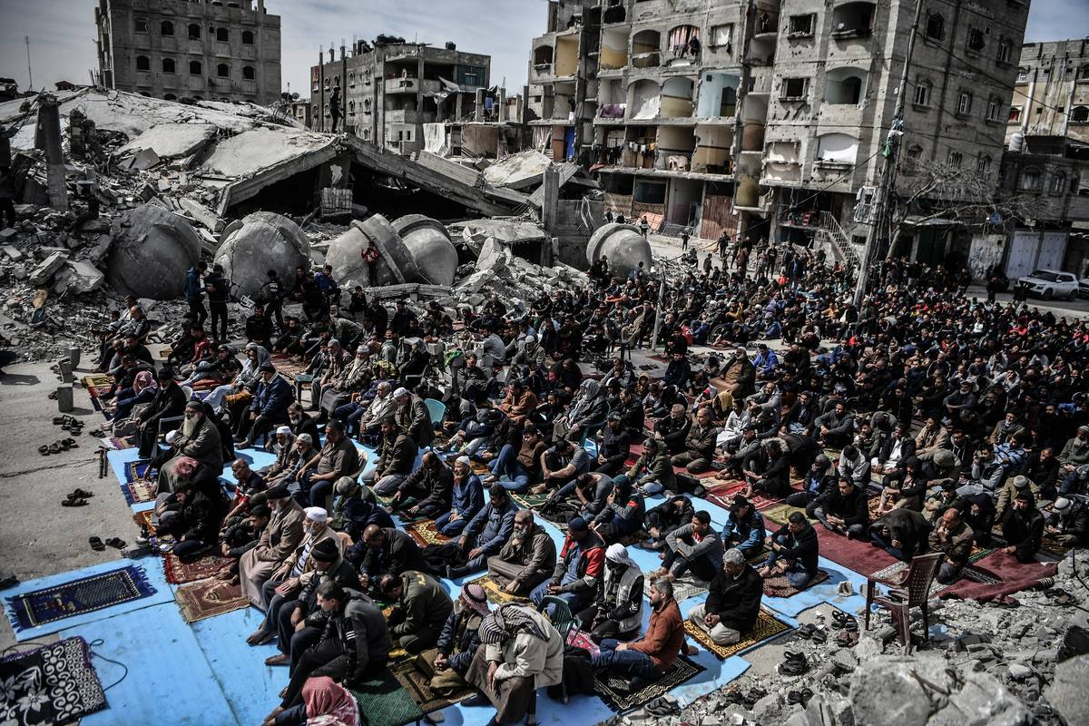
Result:
[[[280,99],[280,16],[265,0],[98,0],[97,83],[168,101]]]

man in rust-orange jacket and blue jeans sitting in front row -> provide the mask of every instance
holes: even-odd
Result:
[[[590,659],[595,668],[609,668],[616,675],[629,676],[632,692],[665,673],[684,645],[684,620],[673,599],[673,583],[654,580],[650,586],[650,605],[646,636],[631,643],[605,638],[601,641],[601,652]]]

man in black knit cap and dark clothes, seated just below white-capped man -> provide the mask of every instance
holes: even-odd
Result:
[[[277,616],[277,648],[280,653],[265,660],[265,665],[297,663],[302,654],[317,644],[321,629],[306,624],[306,617],[318,610],[318,587],[322,582],[337,582],[342,588],[357,590],[359,576],[355,567],[341,556],[335,538],[327,538],[314,545],[310,552],[314,569],[301,579],[303,589],[294,600],[284,601]]]

